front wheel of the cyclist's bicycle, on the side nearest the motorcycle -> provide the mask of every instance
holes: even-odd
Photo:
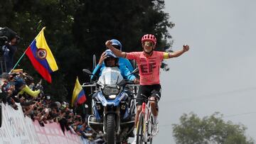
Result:
[[[143,126],[144,126],[144,114],[139,114],[139,121],[137,123],[137,144],[143,143],[144,133],[143,133]]]

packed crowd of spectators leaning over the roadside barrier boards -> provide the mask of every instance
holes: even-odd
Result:
[[[78,115],[66,101],[53,101],[52,96],[43,93],[41,81],[33,82],[26,72],[4,72],[0,77],[0,99],[18,110],[21,104],[24,116],[38,121],[40,126],[47,123],[60,123],[63,133],[70,131],[89,140],[96,140],[102,135],[95,135],[87,126],[86,118]]]

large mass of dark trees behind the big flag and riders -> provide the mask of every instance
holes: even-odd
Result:
[[[47,94],[68,101],[76,76],[81,83],[88,82],[82,69],[92,70],[92,55],[98,60],[106,40],[116,38],[124,51],[140,51],[142,35],[153,33],[157,50],[169,50],[167,30],[174,26],[164,13],[163,0],[3,0],[0,13],[0,26],[13,29],[22,38],[15,61],[46,26],[46,40],[59,70],[52,74],[53,84],[43,84]],[[41,79],[26,56],[17,68],[27,70],[36,81]]]

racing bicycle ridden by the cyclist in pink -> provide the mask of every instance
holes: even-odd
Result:
[[[137,123],[137,144],[152,143],[153,140],[153,114],[151,113],[149,101],[155,101],[148,99],[144,94],[142,94],[142,111],[139,113],[139,119]],[[134,98],[139,99],[139,98]]]

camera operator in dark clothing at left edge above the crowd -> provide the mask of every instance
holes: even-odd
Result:
[[[0,73],[10,72],[14,67],[14,54],[19,40],[17,33],[10,28],[0,28]]]

